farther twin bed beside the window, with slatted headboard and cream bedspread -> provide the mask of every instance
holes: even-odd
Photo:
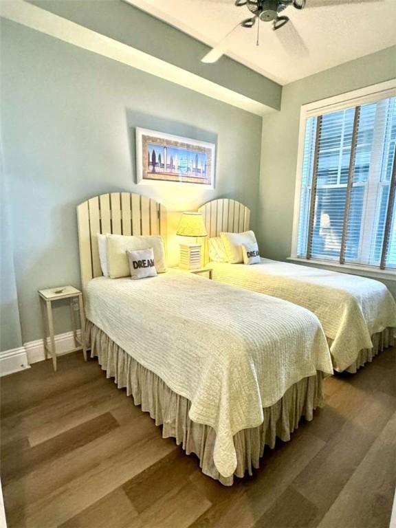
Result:
[[[249,229],[242,203],[219,199],[199,208],[211,238]],[[396,303],[385,285],[357,275],[261,259],[254,265],[210,261],[214,281],[287,300],[313,312],[329,343],[333,368],[355,373],[394,342]]]

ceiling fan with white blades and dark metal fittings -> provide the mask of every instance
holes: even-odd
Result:
[[[214,0],[221,1],[224,3],[225,0]],[[228,47],[228,41],[230,35],[237,28],[253,28],[257,22],[257,41],[256,44],[259,45],[259,30],[260,22],[272,22],[272,29],[277,31],[283,28],[289,22],[289,26],[292,26],[292,21],[284,14],[285,9],[289,7],[294,7],[298,10],[304,8],[321,8],[321,7],[335,7],[337,5],[347,4],[347,3],[371,3],[381,0],[234,0],[234,5],[236,7],[245,6],[250,11],[251,16],[239,22],[232,28],[224,38],[210,50],[203,58],[201,58],[202,63],[215,63],[219,58],[225,54]],[[289,49],[294,50],[294,52],[299,52],[300,54],[307,54],[307,48],[303,43],[303,39],[298,35],[298,32],[294,28],[290,28],[289,36],[292,37],[293,42],[289,43]],[[279,36],[284,40],[285,35],[283,32],[279,32]],[[296,46],[297,44],[297,46]]]

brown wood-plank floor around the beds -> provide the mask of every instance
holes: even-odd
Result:
[[[74,353],[1,379],[9,527],[387,528],[395,485],[395,351],[325,382],[327,406],[261,469],[221,486]]]

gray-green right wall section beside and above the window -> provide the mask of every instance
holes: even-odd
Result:
[[[281,112],[263,120],[261,254],[281,261],[290,256],[301,105],[395,77],[396,47],[391,47],[283,87]],[[396,297],[396,282],[384,282]]]

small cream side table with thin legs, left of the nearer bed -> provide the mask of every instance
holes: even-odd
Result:
[[[58,288],[39,289],[41,313],[43,316],[43,341],[44,341],[44,353],[45,359],[48,357],[48,353],[52,358],[52,364],[54,371],[56,371],[56,358],[58,355],[68,354],[82,350],[84,354],[84,360],[87,361],[87,347],[85,345],[85,316],[83,307],[83,294],[79,289],[73,286],[61,286]],[[73,324],[73,335],[74,335],[74,349],[67,350],[62,353],[56,353],[55,347],[55,336],[54,336],[54,319],[52,317],[52,303],[56,300],[69,299],[70,314],[72,316]],[[76,328],[76,316],[75,306],[78,304],[78,311],[80,311],[80,325],[81,325],[81,338],[78,339],[77,328]],[[48,344],[50,340],[50,345]]]

